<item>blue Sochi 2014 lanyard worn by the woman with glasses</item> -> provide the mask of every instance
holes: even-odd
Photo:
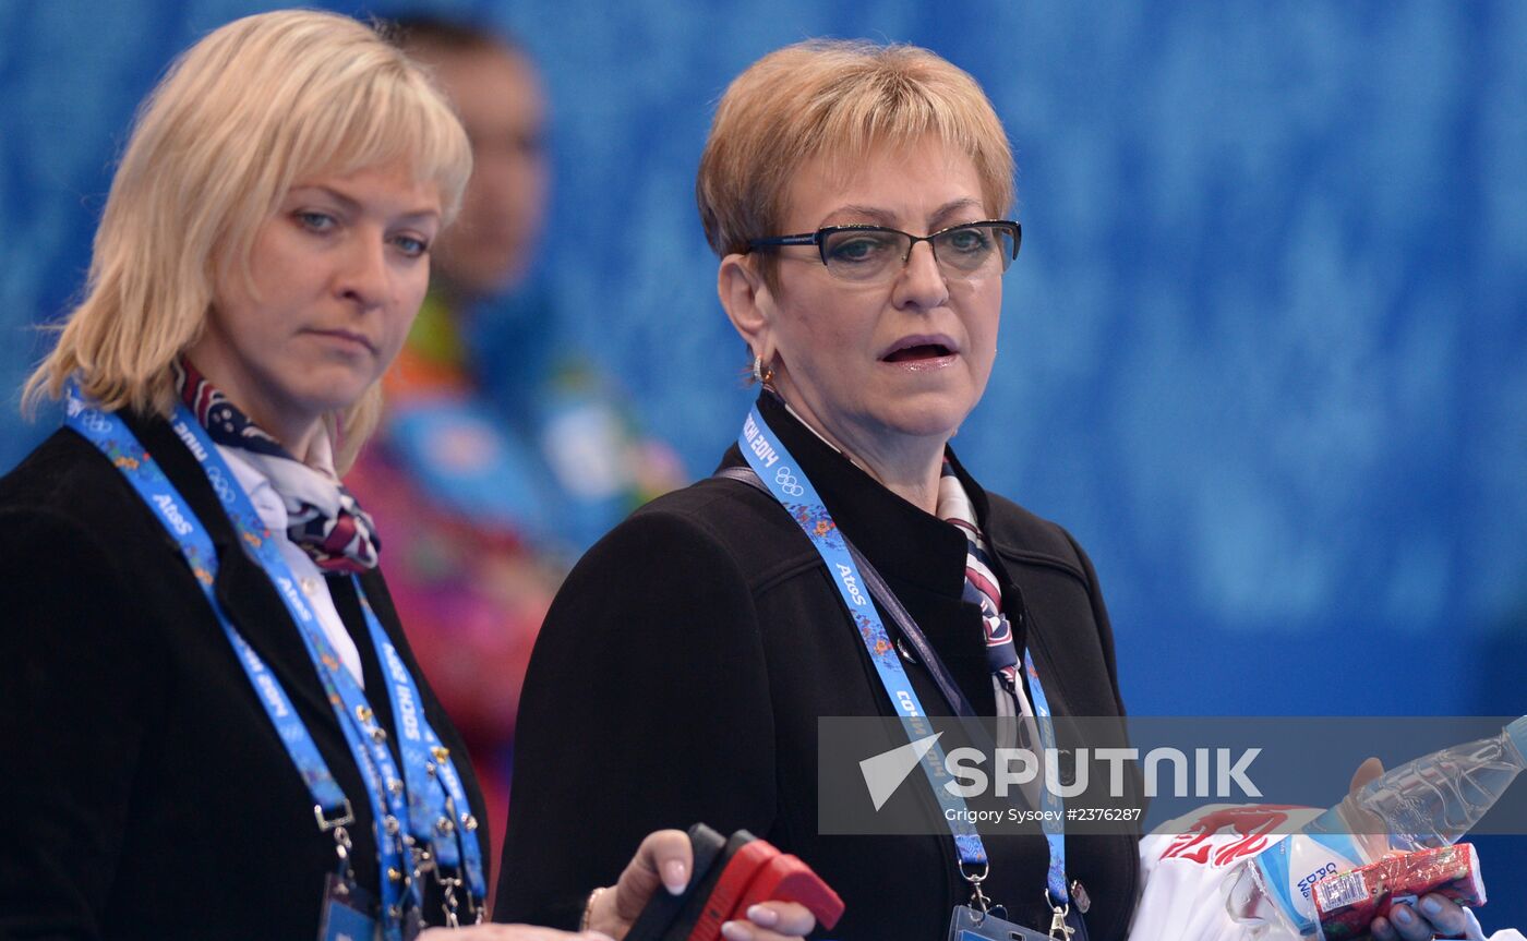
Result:
[[[864,642],[864,648],[869,651],[870,660],[875,663],[875,672],[880,675],[881,684],[886,687],[886,694],[890,697],[892,706],[896,709],[896,715],[901,718],[902,726],[907,730],[907,736],[913,741],[921,739],[930,733],[927,724],[927,713],[922,710],[922,703],[918,700],[916,690],[912,687],[912,681],[907,677],[906,669],[901,666],[901,657],[896,652],[895,645],[892,645],[886,625],[866,597],[869,591],[869,582],[861,573],[858,553],[849,545],[847,539],[838,532],[837,524],[832,521],[832,515],[828,507],[822,503],[817,495],[815,487],[806,478],[805,470],[791,457],[789,449],[785,448],[783,441],[774,435],[773,429],[759,414],[757,406],[750,409],[747,420],[742,423],[742,432],[738,435],[738,446],[742,451],[742,457],[747,458],[748,466],[757,474],[757,478],[764,483],[768,492],[789,512],[791,518],[796,519],[802,532],[811,539],[812,547],[822,561],[828,565],[828,571],[832,573],[834,585],[838,588],[838,594],[843,597],[843,603],[847,606],[855,623],[860,628],[860,637]],[[878,574],[875,576],[876,580]],[[886,591],[889,594],[889,590]],[[892,596],[893,597],[893,596]],[[902,622],[902,619],[898,619]],[[939,687],[945,690],[945,697],[951,698],[950,706],[956,712],[968,710],[964,697],[959,695],[957,686],[947,675],[942,661],[933,654],[933,648],[927,643],[927,639],[918,629],[916,622],[912,617],[904,619],[899,623],[904,634],[912,640],[913,646],[922,654],[924,665],[935,674],[935,680]],[[1044,698],[1044,692],[1040,687],[1038,672],[1034,669],[1034,658],[1025,651],[1025,671],[1029,677],[1029,689],[1034,694],[1034,712],[1037,724],[1040,726],[1040,739],[1044,749],[1055,747],[1055,733],[1051,721],[1049,703]],[[947,687],[947,689],[945,689]],[[1054,752],[1051,752],[1054,753]],[[986,849],[982,845],[980,834],[976,826],[970,823],[970,814],[965,813],[965,802],[956,794],[951,794],[944,788],[944,779],[947,773],[944,770],[944,752],[935,744],[933,749],[927,752],[922,759],[922,770],[928,779],[928,785],[933,788],[935,797],[939,800],[941,810],[944,810],[944,817],[950,822],[950,833],[954,837],[954,848],[959,854],[960,875],[967,881],[971,881],[976,888],[974,900],[977,903],[983,900],[980,892],[980,881],[985,878],[988,869]],[[1051,788],[1040,788],[1048,813],[1046,817],[1054,817],[1044,822],[1044,837],[1049,845],[1049,871],[1046,874],[1046,889],[1049,892],[1051,904],[1067,904],[1066,892],[1066,840],[1064,840],[1064,808],[1057,794]],[[1052,826],[1054,825],[1054,826]],[[977,874],[979,868],[979,874]],[[977,907],[983,907],[977,904]],[[1058,910],[1058,909],[1057,909]]]

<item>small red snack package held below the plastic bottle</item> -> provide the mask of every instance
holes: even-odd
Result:
[[[1368,936],[1368,926],[1396,903],[1437,892],[1461,906],[1484,904],[1480,857],[1472,843],[1420,849],[1338,872],[1315,883],[1315,910],[1327,941]]]

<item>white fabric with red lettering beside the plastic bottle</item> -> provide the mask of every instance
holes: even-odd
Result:
[[[1161,825],[1141,840],[1141,894],[1130,941],[1298,941],[1278,927],[1255,933],[1225,910],[1226,878],[1237,865],[1283,836],[1261,828],[1296,829],[1321,808],[1211,804]],[[1527,941],[1515,929],[1489,941]]]

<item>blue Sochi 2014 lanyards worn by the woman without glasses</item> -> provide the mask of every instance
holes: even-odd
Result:
[[[142,448],[121,417],[93,408],[73,388],[70,388],[66,423],[95,445],[113,463],[113,466],[116,466],[127,477],[128,483],[131,483],[131,486],[144,498],[144,503],[156,513],[169,535],[180,545],[182,555],[191,567],[197,584],[202,587],[208,603],[217,614],[218,622],[223,625],[229,642],[238,652],[240,665],[244,668],[250,683],[260,694],[261,704],[270,715],[272,724],[276,727],[281,741],[286,744],[293,764],[298,767],[302,779],[308,782],[316,804],[315,813],[318,816],[319,828],[322,831],[334,831],[336,843],[341,849],[341,859],[347,859],[348,837],[344,833],[344,823],[354,820],[354,816],[350,813],[350,802],[345,799],[339,785],[334,782],[333,774],[328,771],[328,767],[324,764],[324,759],[318,752],[318,745],[313,742],[312,735],[302,724],[301,718],[298,718],[296,710],[292,707],[290,700],[281,689],[279,681],[260,660],[258,654],[249,646],[249,643],[238,634],[238,629],[232,625],[228,614],[223,611],[223,606],[218,603],[214,591],[217,551],[206,530],[189,512],[189,506],[183,501],[174,484],[150,458],[148,452]],[[423,886],[421,880],[417,878],[417,866],[409,865],[415,860],[405,863],[405,854],[408,852],[406,843],[412,843],[415,848],[421,846],[425,849],[434,849],[440,854],[437,859],[458,859],[455,852],[457,846],[454,845],[457,840],[452,836],[455,825],[452,823],[452,817],[447,814],[452,805],[457,808],[467,807],[460,776],[450,765],[449,756],[444,756],[444,759],[437,758],[438,764],[428,764],[428,761],[421,758],[421,755],[444,755],[444,750],[440,749],[438,738],[421,715],[421,703],[418,700],[417,689],[412,684],[412,677],[408,677],[406,684],[399,681],[397,671],[392,669],[394,663],[403,675],[406,675],[408,671],[402,669],[402,661],[397,660],[397,652],[392,651],[391,643],[386,642],[385,631],[371,613],[370,605],[365,603],[365,593],[360,590],[360,584],[356,582],[357,594],[365,606],[366,626],[371,632],[373,643],[377,645],[379,652],[391,652],[388,672],[394,680],[394,686],[389,687],[388,692],[392,698],[394,716],[399,718],[399,729],[411,727],[426,744],[425,750],[406,747],[400,749],[408,762],[405,764],[405,778],[428,781],[428,778],[437,774],[441,768],[447,770],[441,774],[447,794],[440,794],[438,788],[431,788],[428,785],[415,790],[412,781],[409,781],[409,785],[405,785],[403,779],[397,773],[392,755],[386,747],[386,732],[376,723],[376,716],[366,704],[365,694],[360,690],[354,677],[350,675],[350,671],[341,665],[339,657],[334,655],[328,640],[318,628],[318,619],[312,608],[308,608],[307,602],[302,600],[301,594],[295,590],[295,576],[286,561],[281,559],[279,550],[270,539],[269,530],[266,530],[263,522],[260,522],[258,513],[255,513],[247,495],[243,492],[243,487],[238,486],[232,470],[229,470],[228,464],[223,461],[217,446],[185,406],[177,409],[177,414],[171,422],[171,428],[186,443],[188,449],[202,464],[203,472],[208,475],[208,481],[212,484],[214,492],[223,503],[223,509],[228,513],[229,521],[238,530],[243,544],[247,545],[255,555],[267,577],[270,577],[272,584],[276,587],[278,594],[286,603],[293,622],[299,626],[298,634],[302,637],[308,655],[313,660],[327,698],[334,706],[341,730],[344,732],[356,765],[366,782],[366,791],[371,797],[374,811],[373,816],[376,820],[377,851],[380,855],[383,930],[389,939],[402,938],[402,917],[405,906],[412,904],[417,912],[423,900]],[[386,643],[386,648],[382,646],[383,643]],[[383,652],[383,655],[386,654]],[[400,703],[400,690],[405,686],[408,687],[408,704]],[[412,716],[408,726],[403,723],[403,715]],[[415,764],[420,767],[415,768]],[[405,793],[405,787],[408,793]],[[431,800],[432,796],[434,800]],[[428,811],[421,808],[421,813],[409,813],[409,804],[412,802],[423,802],[425,807],[428,807]],[[437,810],[440,813],[434,813]],[[420,828],[420,823],[426,819],[425,813],[431,814],[428,816],[429,826]],[[400,819],[408,820],[408,833],[405,833]],[[464,831],[475,829],[475,820],[470,820],[470,814],[467,813],[463,813],[463,823]],[[432,837],[437,829],[443,839]],[[447,843],[450,843],[449,852],[441,852]],[[486,886],[483,884],[481,854],[476,846],[476,839],[472,836],[461,837],[460,843],[463,854],[467,859],[466,872],[469,891],[472,892],[473,901],[481,901],[481,898],[486,897]],[[414,872],[415,878],[408,878],[406,874],[409,872]],[[403,898],[405,889],[402,886],[406,886],[406,900]],[[452,884],[446,881],[447,914],[449,906],[452,904],[450,888]]]

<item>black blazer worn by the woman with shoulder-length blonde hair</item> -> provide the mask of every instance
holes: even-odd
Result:
[[[215,542],[217,596],[350,797],[356,875],[377,886],[360,771],[287,610],[174,432],[128,423]],[[418,672],[380,573],[362,582],[483,819],[466,747]],[[359,599],[345,577],[328,590],[391,735]],[[334,840],[319,833],[312,796],[179,548],[67,429],[0,480],[0,935],[316,935]],[[487,852],[486,825],[478,839]]]

